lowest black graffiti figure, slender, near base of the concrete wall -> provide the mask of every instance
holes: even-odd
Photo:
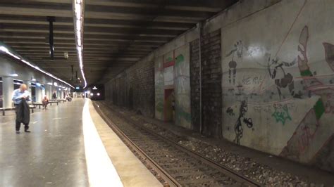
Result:
[[[233,141],[234,143],[237,143],[239,145],[240,145],[240,139],[242,138],[242,134],[244,131],[242,123],[246,124],[248,128],[253,127],[252,118],[245,117],[247,110],[248,110],[247,102],[242,101],[239,109],[239,117],[237,117],[237,122],[235,122],[235,127],[234,127],[235,139]]]

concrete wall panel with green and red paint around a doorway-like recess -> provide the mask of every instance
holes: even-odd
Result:
[[[156,58],[156,118],[191,128],[190,48],[182,46]]]

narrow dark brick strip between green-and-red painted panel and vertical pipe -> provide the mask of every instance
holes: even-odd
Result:
[[[200,93],[199,93],[199,39],[190,43],[190,96],[192,111],[192,129],[199,131]]]

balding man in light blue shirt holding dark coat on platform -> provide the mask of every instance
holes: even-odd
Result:
[[[30,132],[30,110],[27,101],[30,101],[30,93],[27,85],[21,84],[19,89],[14,90],[12,100],[16,108],[16,134],[20,134],[21,123],[25,125],[25,132]]]

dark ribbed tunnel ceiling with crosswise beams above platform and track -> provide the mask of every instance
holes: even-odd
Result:
[[[86,0],[83,61],[89,84],[104,82],[237,0]],[[55,16],[55,58],[49,22]],[[71,0],[0,1],[0,41],[70,82],[78,70]],[[63,53],[67,51],[69,58]],[[74,75],[75,76],[75,75]]]

